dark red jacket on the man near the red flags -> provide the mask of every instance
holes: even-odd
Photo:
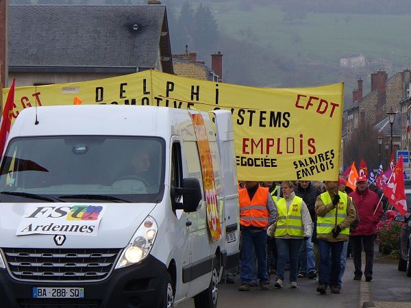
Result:
[[[379,222],[379,219],[382,218],[382,214],[384,214],[382,204],[379,204],[374,214],[375,207],[377,207],[379,201],[378,195],[368,188],[362,192],[356,188],[349,196],[353,198],[357,206],[358,216],[360,216],[360,224],[358,224],[355,231],[351,232],[351,235],[375,234],[377,232],[375,226]]]

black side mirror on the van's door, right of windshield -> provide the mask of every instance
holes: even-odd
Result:
[[[199,179],[195,177],[183,179],[182,187],[175,188],[175,192],[183,195],[183,202],[175,204],[175,209],[183,209],[186,213],[197,211],[202,198]]]

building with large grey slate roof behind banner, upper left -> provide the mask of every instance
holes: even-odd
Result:
[[[165,5],[10,5],[9,81],[174,73]]]

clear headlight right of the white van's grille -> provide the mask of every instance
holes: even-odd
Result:
[[[125,247],[116,268],[125,268],[145,259],[149,255],[151,247],[153,247],[157,232],[157,222],[151,216],[147,216],[134,233],[132,240]]]

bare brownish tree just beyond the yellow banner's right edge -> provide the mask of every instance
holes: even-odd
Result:
[[[378,131],[368,121],[360,124],[351,133],[349,142],[344,149],[344,165],[349,166],[356,162],[359,166],[363,158],[368,165],[378,166],[379,146],[377,142]]]

